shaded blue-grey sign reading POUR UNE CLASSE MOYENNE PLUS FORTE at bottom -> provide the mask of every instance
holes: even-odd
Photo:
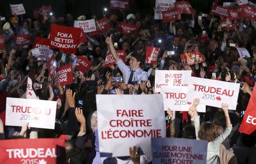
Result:
[[[207,161],[205,140],[152,138],[152,163],[196,163]]]

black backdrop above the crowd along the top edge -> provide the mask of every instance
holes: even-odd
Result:
[[[213,0],[188,0],[196,10],[209,12],[212,7]],[[234,0],[219,1],[232,2]],[[256,0],[251,0],[255,2]],[[6,16],[7,19],[11,17],[10,4],[23,3],[26,10],[26,14],[23,15],[25,18],[32,18],[32,9],[40,8],[42,5],[51,5],[53,13],[56,17],[64,16],[70,13],[76,19],[80,15],[86,15],[87,19],[92,15],[102,15],[104,7],[109,7],[109,0],[0,0],[0,15]],[[155,0],[130,0],[130,11],[129,13],[142,13],[153,14],[152,8],[155,6]],[[108,14],[116,13],[118,10],[109,10]]]

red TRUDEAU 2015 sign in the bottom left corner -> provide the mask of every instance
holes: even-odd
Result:
[[[15,139],[0,140],[1,164],[65,163],[65,140]]]

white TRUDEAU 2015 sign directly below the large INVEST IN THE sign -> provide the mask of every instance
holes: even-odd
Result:
[[[187,101],[187,87],[161,87],[161,93],[163,95],[164,110],[170,108],[172,111],[188,111],[189,107],[192,106],[193,101]],[[199,104],[197,106],[198,112],[205,113],[205,110],[206,106],[204,104]]]

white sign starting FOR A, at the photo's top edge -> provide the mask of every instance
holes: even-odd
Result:
[[[156,0],[155,1],[155,19],[163,19],[162,11],[175,7],[176,0]]]

